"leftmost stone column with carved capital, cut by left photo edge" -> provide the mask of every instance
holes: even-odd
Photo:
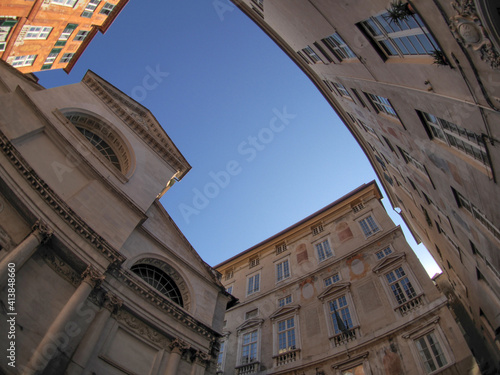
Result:
[[[32,232],[19,245],[9,251],[9,253],[0,262],[0,287],[3,287],[7,281],[8,264],[15,265],[16,272],[31,258],[38,247],[48,241],[52,236],[52,231],[47,225],[38,220],[32,228]]]

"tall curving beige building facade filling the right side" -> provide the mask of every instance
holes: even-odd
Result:
[[[343,120],[500,371],[498,1],[234,3]]]

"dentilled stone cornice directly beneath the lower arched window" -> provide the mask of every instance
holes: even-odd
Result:
[[[137,276],[132,275],[126,270],[118,268],[111,268],[109,270],[109,273],[112,276],[116,277],[119,281],[123,282],[126,286],[132,289],[135,293],[139,294],[149,303],[154,305],[156,308],[160,309],[161,311],[167,313],[172,318],[177,320],[183,326],[188,327],[197,334],[206,337],[208,340],[214,340],[220,337],[219,333],[206,326],[205,324],[197,321],[189,313],[184,311],[181,307],[177,306],[163,294],[157,292],[149,285],[137,280]]]

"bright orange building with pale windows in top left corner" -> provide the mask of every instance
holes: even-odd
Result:
[[[0,3],[0,58],[22,73],[69,73],[97,31],[128,0],[10,0]]]

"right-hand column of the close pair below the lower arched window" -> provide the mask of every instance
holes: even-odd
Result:
[[[83,373],[83,370],[85,370],[89,362],[92,350],[99,342],[109,317],[123,304],[120,298],[109,292],[104,295],[104,298],[101,310],[97,313],[92,323],[90,323],[75,354],[73,354],[71,358],[71,362],[66,369],[66,375],[80,375]]]

